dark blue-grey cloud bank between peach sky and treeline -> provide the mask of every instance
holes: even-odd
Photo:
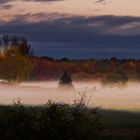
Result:
[[[36,22],[28,20],[34,17],[42,18]],[[27,37],[38,55],[81,57],[97,53],[134,57],[140,53],[140,17],[26,14],[1,24],[0,33]]]

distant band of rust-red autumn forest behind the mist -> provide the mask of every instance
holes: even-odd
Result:
[[[125,83],[140,80],[140,60],[135,59],[54,59],[32,57],[35,64],[30,80],[58,80],[67,70],[73,80],[99,80],[102,83]]]

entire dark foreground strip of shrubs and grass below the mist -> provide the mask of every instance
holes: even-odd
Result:
[[[0,106],[0,140],[138,140],[140,113],[84,104]]]

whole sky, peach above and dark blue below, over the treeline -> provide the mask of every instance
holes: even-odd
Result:
[[[140,59],[140,0],[0,0],[0,36],[35,55]]]

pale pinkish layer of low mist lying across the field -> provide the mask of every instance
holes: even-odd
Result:
[[[84,94],[88,106],[107,109],[140,110],[140,83],[128,82],[124,85],[102,85],[100,82],[73,82],[74,89],[58,89],[58,81],[23,82],[20,85],[0,85],[0,104],[21,103],[45,104],[48,99],[58,103],[72,104]],[[89,101],[90,100],[90,101]]]

